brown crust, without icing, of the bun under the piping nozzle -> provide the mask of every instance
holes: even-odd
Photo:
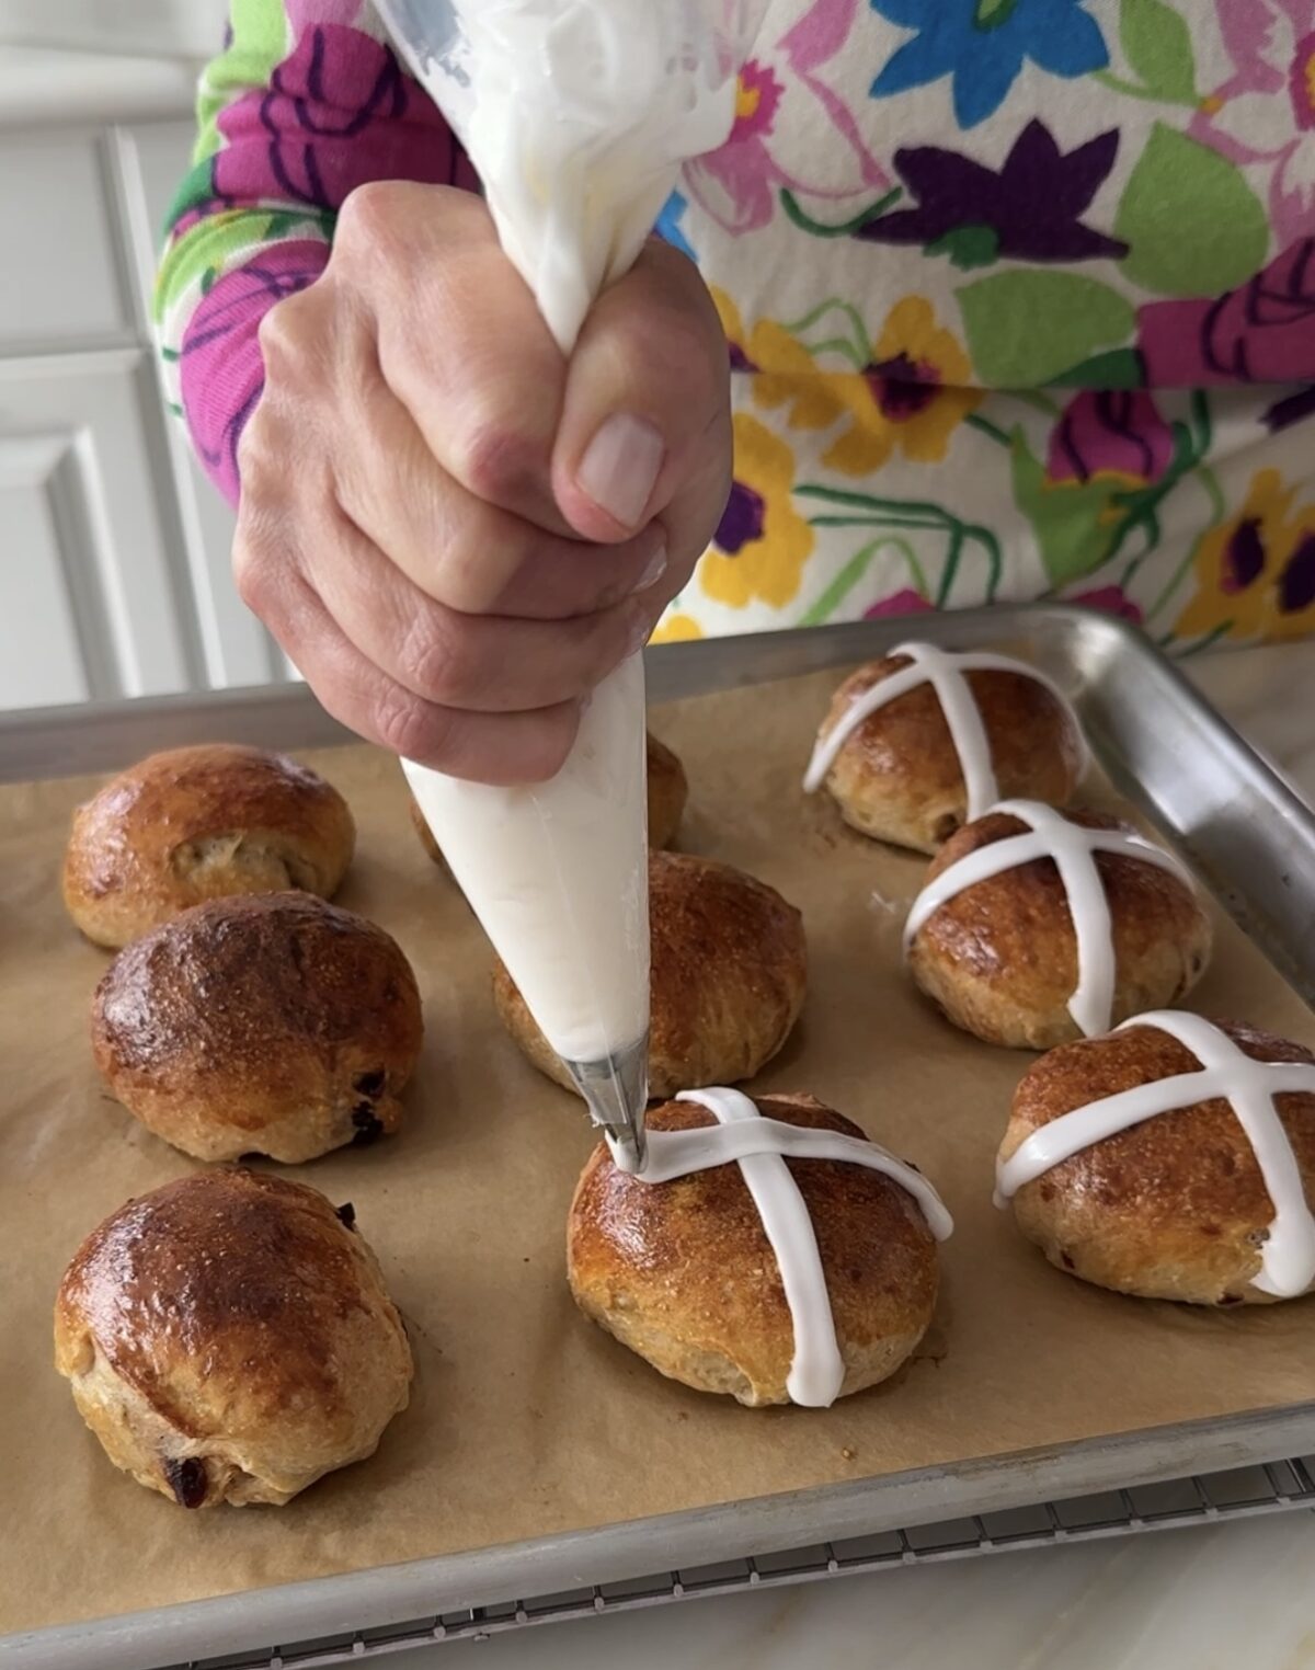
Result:
[[[864,1136],[810,1096],[769,1096],[757,1106],[785,1124]],[[648,1124],[688,1131],[713,1116],[667,1102]],[[892,1179],[837,1161],[785,1164],[817,1234],[847,1396],[892,1374],[926,1333],[936,1241]],[[790,1401],[794,1323],[739,1166],[648,1184],[618,1171],[600,1142],[571,1202],[566,1266],[585,1316],[660,1373],[745,1404]]]

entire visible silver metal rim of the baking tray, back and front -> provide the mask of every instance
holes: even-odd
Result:
[[[1096,757],[1113,768],[1120,790],[1188,852],[1297,989],[1308,1000],[1315,995],[1315,817],[1125,621],[1031,605],[670,645],[648,653],[650,700],[859,663],[909,636],[951,648],[1008,641],[1074,690]],[[1155,700],[1155,725],[1141,723],[1138,688]],[[1123,748],[1130,738],[1131,752]],[[0,780],[110,770],[152,748],[201,740],[309,748],[353,738],[302,686],[38,710],[0,716]],[[1185,770],[1193,750],[1208,752],[1210,772]],[[1165,783],[1173,792],[1163,792]],[[1315,1403],[1158,1426],[13,1635],[0,1642],[0,1662],[144,1670],[1312,1448]]]

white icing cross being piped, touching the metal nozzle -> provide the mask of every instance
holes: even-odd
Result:
[[[672,1182],[713,1166],[739,1164],[775,1254],[780,1286],[790,1308],[794,1361],[785,1389],[792,1403],[827,1408],[840,1394],[845,1366],[835,1339],[835,1318],[812,1217],[785,1157],[830,1159],[879,1171],[917,1201],[937,1241],[951,1236],[954,1222],[927,1179],[876,1142],[849,1137],[840,1131],[814,1131],[784,1119],[764,1119],[757,1104],[740,1091],[687,1091],[677,1101],[705,1107],[717,1124],[698,1131],[650,1131],[648,1157],[638,1177],[652,1184]]]

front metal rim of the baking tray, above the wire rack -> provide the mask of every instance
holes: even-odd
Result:
[[[1307,1453],[1315,1401],[720,1503],[12,1635],[22,1670],[147,1670]],[[261,1511],[261,1510],[254,1510]]]

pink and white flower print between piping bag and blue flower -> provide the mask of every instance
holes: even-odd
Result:
[[[685,170],[690,195],[727,232],[767,225],[782,187],[847,202],[889,185],[857,117],[824,73],[840,57],[861,8],[862,0],[812,0],[740,72],[730,137]],[[829,144],[814,139],[819,119],[832,130]]]

